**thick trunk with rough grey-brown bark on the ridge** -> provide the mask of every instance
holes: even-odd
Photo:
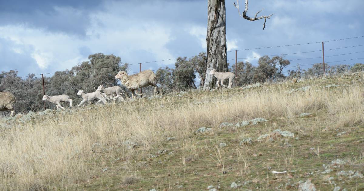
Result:
[[[209,74],[211,69],[227,72],[225,0],[208,0],[207,10],[207,68],[203,89],[212,89],[216,78]]]

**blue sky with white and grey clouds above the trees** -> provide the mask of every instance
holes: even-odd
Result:
[[[306,59],[321,57],[322,44],[252,48],[364,36],[363,0],[250,0],[248,16],[262,8],[259,15],[274,13],[264,30],[264,20],[241,18],[233,2],[226,0],[227,51],[251,49],[238,51],[239,61],[256,64],[258,58],[246,58],[283,54],[292,60],[286,71],[297,63],[322,63],[322,58]],[[129,64],[194,56],[206,52],[206,31],[206,0],[0,0],[0,71],[16,69],[19,76],[63,71],[99,52]],[[356,46],[325,51],[329,65],[364,63],[364,37],[324,46]],[[308,51],[316,52],[300,53]],[[228,52],[227,59],[233,65],[235,53]],[[142,68],[166,65],[174,67],[174,60]],[[129,72],[137,71],[139,65],[131,65]]]

